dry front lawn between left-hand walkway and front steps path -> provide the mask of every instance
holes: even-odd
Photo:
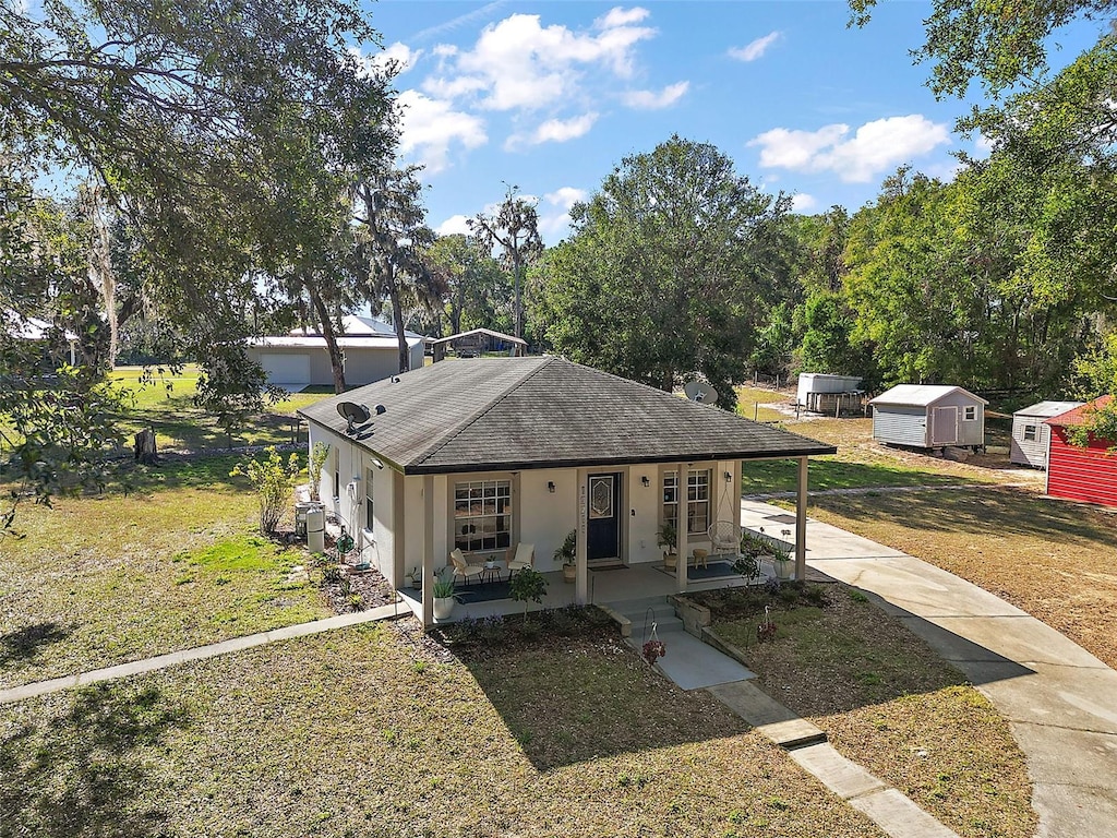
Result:
[[[615,629],[466,661],[401,631],[4,706],[6,821],[48,837],[881,835]]]

